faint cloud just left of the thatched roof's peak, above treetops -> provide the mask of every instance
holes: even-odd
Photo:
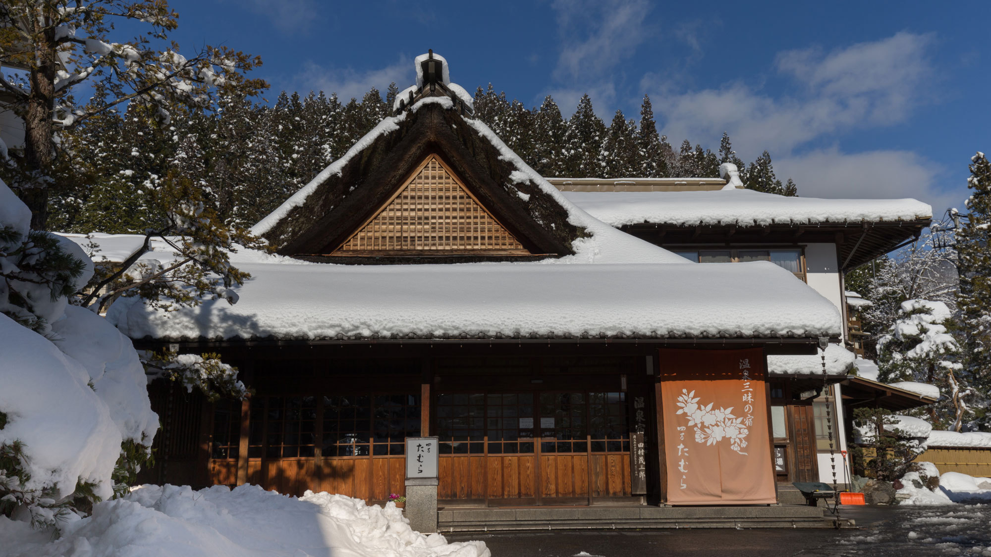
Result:
[[[337,93],[344,103],[352,97],[361,100],[372,87],[378,88],[385,95],[385,88],[390,82],[395,81],[401,90],[412,85],[415,80],[413,60],[407,56],[399,56],[398,61],[385,67],[366,71],[357,71],[351,67],[325,67],[308,62],[304,71],[294,78],[299,90],[324,91],[328,95]]]

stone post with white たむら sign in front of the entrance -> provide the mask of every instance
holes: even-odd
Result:
[[[406,437],[406,518],[424,534],[437,531],[437,437]]]

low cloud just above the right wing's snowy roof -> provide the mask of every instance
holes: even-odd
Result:
[[[936,218],[966,195],[938,187],[942,169],[911,151],[842,153],[832,147],[776,159],[774,171],[782,181],[794,178],[803,197],[914,197],[933,205]]]

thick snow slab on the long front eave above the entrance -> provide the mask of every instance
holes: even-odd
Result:
[[[120,299],[131,338],[836,336],[825,297],[768,262],[700,265],[238,264],[241,301],[170,312]]]

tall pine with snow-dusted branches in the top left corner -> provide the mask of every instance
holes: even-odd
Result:
[[[31,208],[36,230],[46,228],[50,192],[71,183],[55,173],[57,158],[73,156],[58,149],[59,134],[125,104],[143,106],[167,126],[174,106],[199,106],[217,90],[268,86],[244,76],[261,64],[258,57],[223,47],[179,55],[167,41],[177,14],[165,0],[93,0],[71,8],[64,0],[8,0],[0,12],[0,65],[27,68],[0,77],[25,126],[23,152],[11,153],[13,165],[2,170]],[[142,25],[143,36],[111,43],[118,29]],[[105,101],[77,105],[73,91],[87,86],[105,92]]]

